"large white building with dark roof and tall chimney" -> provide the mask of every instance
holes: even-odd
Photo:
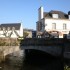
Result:
[[[43,7],[38,9],[37,36],[44,31],[48,33],[58,33],[59,38],[70,31],[70,12],[68,14],[61,11],[44,12]]]

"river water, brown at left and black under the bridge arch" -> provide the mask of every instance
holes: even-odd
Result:
[[[22,53],[21,56],[9,56],[0,64],[0,70],[62,70],[59,57],[36,50],[31,50],[26,57]]]

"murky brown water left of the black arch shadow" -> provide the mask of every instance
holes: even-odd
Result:
[[[22,51],[21,51],[22,52]],[[18,56],[17,56],[18,54]],[[7,56],[5,62],[0,63],[0,70],[20,70],[23,62],[23,56],[20,52],[16,52],[14,56]]]

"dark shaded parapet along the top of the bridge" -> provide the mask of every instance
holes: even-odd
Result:
[[[64,40],[63,39],[44,39],[44,38],[27,38],[21,41],[20,45],[21,46],[57,46],[60,45],[62,46],[64,44]]]

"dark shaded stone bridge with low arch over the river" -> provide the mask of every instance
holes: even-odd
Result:
[[[69,39],[44,39],[44,38],[28,38],[20,43],[21,49],[35,49],[44,51],[54,56],[63,55],[70,58],[70,40]]]

